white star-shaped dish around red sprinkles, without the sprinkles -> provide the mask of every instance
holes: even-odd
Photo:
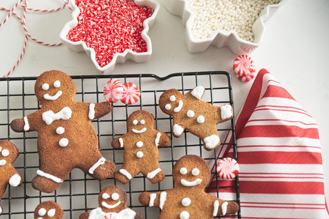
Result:
[[[148,8],[151,8],[154,12],[153,14],[147,18],[143,23],[143,31],[142,31],[142,38],[145,40],[147,45],[147,51],[143,53],[136,53],[130,49],[126,49],[123,53],[115,53],[112,61],[108,63],[106,66],[99,66],[99,64],[96,62],[96,56],[95,56],[95,50],[87,47],[85,42],[78,41],[78,42],[72,42],[71,40],[66,39],[66,35],[69,33],[70,29],[77,26],[77,16],[80,14],[79,8],[77,8],[77,5],[75,5],[75,0],[70,0],[71,7],[73,8],[72,12],[72,20],[66,23],[60,32],[60,39],[64,44],[66,44],[69,49],[75,51],[75,52],[82,52],[85,51],[90,59],[93,61],[93,64],[95,64],[97,70],[103,74],[109,74],[114,70],[115,64],[117,63],[124,63],[127,60],[132,60],[134,62],[147,62],[149,60],[149,57],[152,53],[152,45],[151,45],[151,39],[149,38],[148,31],[149,28],[151,28],[154,25],[154,22],[156,20],[156,14],[158,14],[158,10],[160,8],[160,5],[158,2],[154,0],[134,0],[136,5],[143,5]]]

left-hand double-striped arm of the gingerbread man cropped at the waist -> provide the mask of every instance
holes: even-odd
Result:
[[[164,203],[167,201],[167,191],[162,192],[142,192],[142,194],[139,195],[138,201],[145,206],[148,207],[162,207],[164,206]]]

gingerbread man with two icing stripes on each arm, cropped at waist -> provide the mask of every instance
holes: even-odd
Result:
[[[159,219],[210,219],[235,214],[239,205],[223,201],[204,190],[210,181],[210,168],[202,157],[186,155],[173,166],[175,188],[162,192],[143,192],[139,202],[149,207],[160,207]]]

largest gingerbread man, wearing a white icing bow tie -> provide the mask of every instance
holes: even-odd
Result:
[[[40,170],[32,179],[33,188],[53,192],[73,168],[80,168],[98,180],[112,175],[115,165],[99,152],[97,134],[91,124],[111,112],[110,103],[75,102],[73,80],[58,70],[42,73],[34,90],[40,110],[10,124],[17,132],[38,131]]]

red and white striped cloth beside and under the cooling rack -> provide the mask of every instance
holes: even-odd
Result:
[[[236,119],[236,145],[242,218],[329,218],[317,125],[265,69]],[[233,157],[230,145],[217,157]],[[235,185],[214,178],[210,188],[217,183]],[[219,198],[235,199],[235,189],[220,189]]]

